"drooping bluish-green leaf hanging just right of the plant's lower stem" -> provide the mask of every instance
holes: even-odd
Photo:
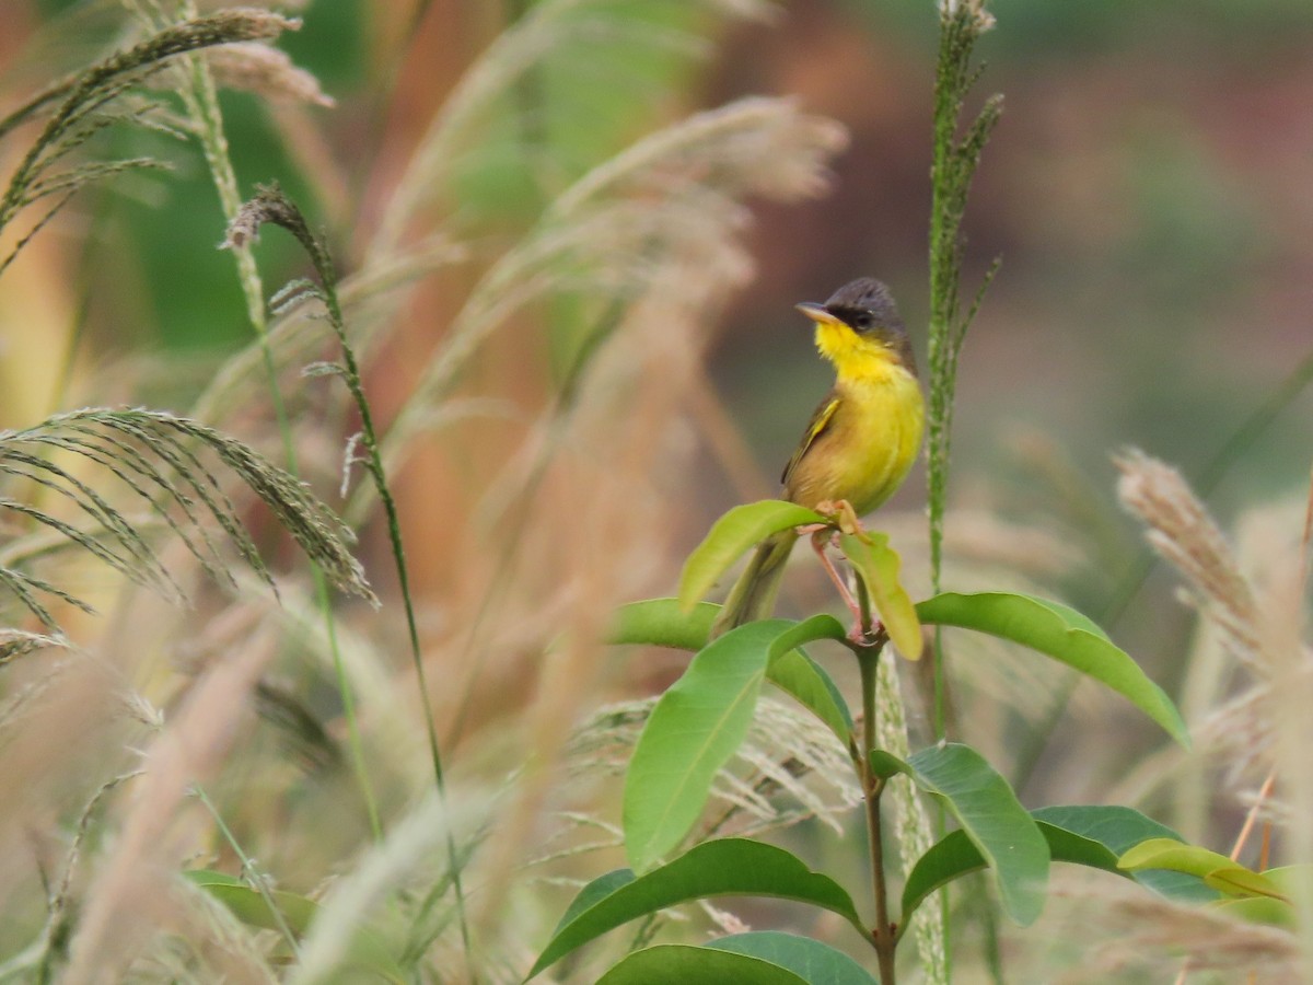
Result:
[[[974,749],[931,746],[907,759],[922,789],[943,797],[989,863],[1007,914],[1023,927],[1044,909],[1049,846],[998,771]]]

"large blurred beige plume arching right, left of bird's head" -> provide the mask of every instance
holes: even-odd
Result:
[[[663,260],[738,231],[747,196],[815,194],[825,162],[844,142],[836,123],[790,100],[744,98],[645,137],[580,177],[479,280],[385,439],[385,461],[412,441],[515,311],[562,292],[633,298],[662,276]]]

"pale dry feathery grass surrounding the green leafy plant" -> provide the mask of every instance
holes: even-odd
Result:
[[[181,9],[138,7],[151,18]],[[762,13],[755,3],[696,7],[713,25]],[[101,457],[130,461],[126,473],[140,489],[113,468],[118,478],[108,479],[106,464],[84,454],[88,461],[59,479],[68,495],[47,490],[59,500],[72,496],[71,510],[66,502],[64,512],[51,514],[56,524],[38,529],[42,523],[22,511],[5,517],[0,566],[30,573],[39,565],[70,599],[85,599],[100,615],[58,600],[47,623],[12,604],[0,630],[9,657],[0,668],[0,802],[11,805],[0,812],[0,981],[43,972],[72,982],[345,980],[344,968],[358,959],[358,927],[383,943],[408,980],[517,981],[572,889],[620,864],[612,823],[618,771],[646,708],[629,701],[662,686],[678,663],[647,653],[621,659],[599,641],[617,604],[668,592],[681,545],[700,532],[701,516],[687,507],[699,456],[709,452],[743,485],[755,478],[742,478],[742,445],[712,395],[705,356],[722,307],[752,277],[743,243],[750,204],[818,194],[846,138],[789,100],[667,113],[609,158],[567,177],[563,165],[548,169],[559,180],[542,179],[541,200],[523,215],[470,219],[453,175],[486,151],[487,121],[506,112],[545,59],[603,41],[702,46],[693,29],[647,37],[618,9],[600,0],[534,4],[469,67],[390,193],[353,217],[343,244],[345,257],[361,257],[341,271],[340,298],[365,390],[383,420],[445,792],[435,791],[427,758],[377,494],[353,468],[356,423],[336,370],[301,376],[340,353],[322,307],[297,303],[269,319],[265,339],[219,366],[192,407],[167,418],[186,420],[189,435],[218,456],[209,468],[227,499],[215,495],[217,508],[194,508],[198,494],[177,485],[176,466],[186,462],[152,466],[154,447],[130,436]],[[327,98],[265,46],[222,49],[206,71],[267,98]],[[180,72],[175,84],[196,79]],[[286,135],[299,141],[298,133]],[[302,160],[316,152],[312,142],[293,148]],[[336,177],[323,177],[332,185],[326,198],[343,204]],[[273,385],[286,408],[281,432]],[[63,433],[67,424],[45,427]],[[281,462],[289,445],[318,499],[239,450],[259,448]],[[949,514],[944,580],[952,587],[1054,595],[1054,583],[1078,582],[1104,563],[1103,535],[1115,521],[1111,511],[1091,521],[1104,498],[1078,490],[1052,449],[1032,441],[1022,453],[1039,464],[1050,499],[1067,514],[1019,519],[987,500]],[[1281,826],[1291,858],[1313,858],[1305,844],[1313,784],[1300,766],[1313,742],[1306,523],[1255,528],[1241,540],[1258,546],[1241,557],[1262,563],[1242,563],[1169,466],[1130,453],[1120,468],[1124,502],[1179,569],[1208,628],[1182,691],[1200,749],[1188,760],[1141,750],[1120,789],[1136,802],[1176,795],[1184,810],[1212,821],[1275,770],[1267,816]],[[24,469],[4,477],[14,502],[30,495],[33,470],[53,474]],[[88,474],[97,470],[98,479]],[[232,482],[232,471],[244,482]],[[155,485],[143,496],[147,483]],[[181,498],[160,508],[159,492],[169,486],[159,483],[172,483]],[[340,583],[368,591],[344,532],[319,500],[335,503],[358,532],[355,552],[382,598],[379,611],[318,592],[280,533],[291,528],[335,566]],[[299,511],[289,512],[289,502]],[[886,519],[907,580],[923,594],[923,517]],[[83,537],[75,541],[81,554],[67,549],[72,535],[58,524]],[[234,544],[247,563],[234,557]],[[123,563],[106,567],[97,546]],[[263,586],[261,566],[277,598]],[[207,580],[206,569],[221,579]],[[134,575],[172,586],[189,607]],[[1048,738],[1052,716],[1066,707],[1067,678],[1003,646],[951,646],[949,658],[966,739],[1007,772],[1027,758],[1019,733]],[[902,688],[907,701],[898,707],[913,734],[924,737],[919,684],[886,678],[884,690],[893,700]],[[626,704],[611,704],[617,700]],[[1071,709],[1081,741],[1102,743],[1103,700],[1082,691]],[[897,732],[884,741],[895,746]],[[789,837],[806,841],[827,829],[832,843],[850,830],[847,812],[857,801],[844,751],[792,708],[767,701],[717,784],[708,830],[790,827]],[[923,844],[924,818],[903,812],[898,834]],[[453,890],[453,858],[463,898]],[[282,934],[215,906],[180,879],[192,868],[312,898],[319,918],[295,942],[290,964]],[[1048,921],[1083,930],[1092,909],[1109,940],[1096,964],[1044,965],[1043,940],[1024,934],[1008,935],[1006,947],[1033,959],[1046,980],[1108,980],[1144,967],[1171,973],[1180,955],[1195,968],[1272,976],[1309,967],[1300,940],[1313,940],[1310,929],[1297,936],[1236,925],[1129,889],[1100,890],[1092,908],[1082,902],[1083,893],[1057,893]],[[717,910],[709,922],[723,930],[741,919]],[[613,935],[562,981],[592,980],[605,957],[658,926],[689,938],[708,931],[704,922],[674,921],[663,914]],[[940,947],[932,936],[920,943]]]

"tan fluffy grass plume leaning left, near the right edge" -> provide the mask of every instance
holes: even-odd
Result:
[[[1260,626],[1254,591],[1236,566],[1226,538],[1175,469],[1130,449],[1115,458],[1117,495],[1148,527],[1146,537],[1194,587],[1233,655],[1255,667]]]

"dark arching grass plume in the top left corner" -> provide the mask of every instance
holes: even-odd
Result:
[[[47,198],[55,201],[0,260],[0,272],[79,189],[123,171],[161,167],[160,162],[154,159],[134,158],[59,169],[60,162],[105,127],[117,122],[140,122],[150,112],[137,108],[125,113],[110,108],[112,102],[138,87],[171,58],[215,45],[270,39],[295,25],[297,21],[259,9],[223,11],[173,25],[71,79],[51,85],[0,120],[0,138],[3,138],[22,122],[54,106],[39,135],[9,176],[4,194],[0,196],[0,232],[8,229],[14,217],[28,206]]]

